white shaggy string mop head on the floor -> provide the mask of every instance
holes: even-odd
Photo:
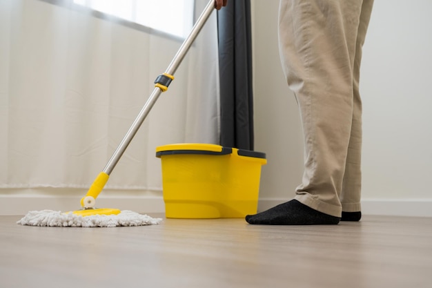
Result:
[[[81,216],[72,212],[43,210],[30,211],[17,224],[48,227],[117,227],[155,225],[161,218],[151,218],[148,215],[124,210],[117,215]]]

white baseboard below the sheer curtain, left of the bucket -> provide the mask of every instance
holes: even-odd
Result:
[[[0,215],[26,215],[28,211],[55,210],[73,211],[81,209],[81,198],[62,195],[0,195]],[[161,196],[100,196],[97,207],[131,210],[138,213],[165,213]]]

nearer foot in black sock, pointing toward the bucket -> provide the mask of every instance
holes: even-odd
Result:
[[[339,221],[339,217],[312,209],[295,199],[267,211],[246,216],[246,222],[249,224],[265,225],[337,224]]]

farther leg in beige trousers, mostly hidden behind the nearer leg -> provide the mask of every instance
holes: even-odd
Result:
[[[363,0],[360,23],[355,44],[355,57],[353,66],[353,122],[351,124],[351,137],[348,144],[348,155],[344,180],[342,183],[342,221],[359,221],[362,218],[360,197],[362,189],[361,155],[362,155],[362,100],[360,99],[360,63],[362,61],[362,47],[366,31],[371,19],[373,0]]]

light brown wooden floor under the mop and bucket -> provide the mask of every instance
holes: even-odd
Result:
[[[117,228],[23,227],[19,219],[0,216],[0,287],[432,287],[432,218]]]

